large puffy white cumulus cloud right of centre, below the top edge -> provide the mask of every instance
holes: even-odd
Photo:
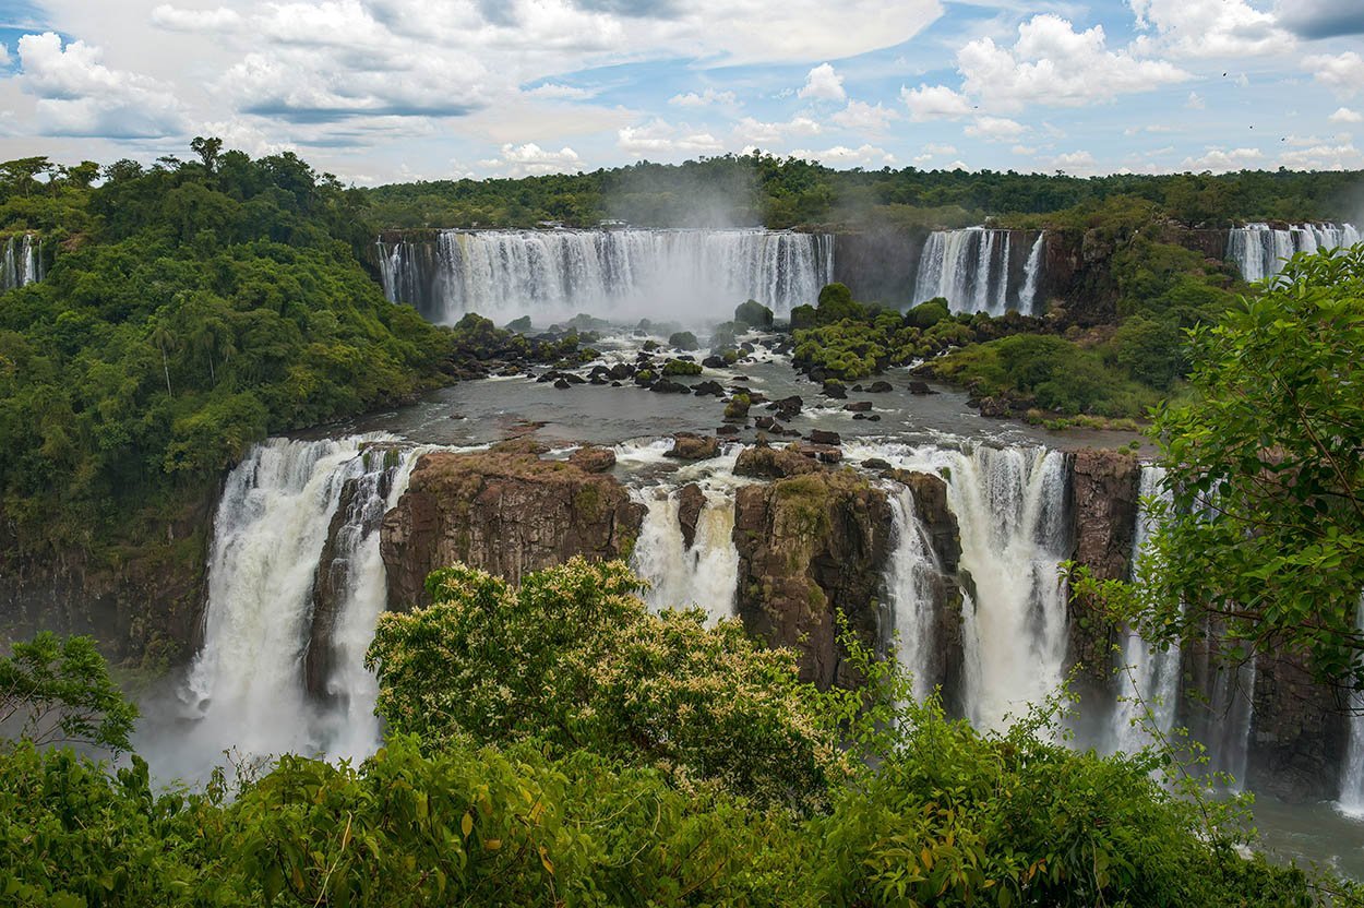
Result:
[[[1020,25],[1012,48],[979,38],[963,46],[956,61],[964,93],[997,110],[1084,106],[1192,78],[1163,60],[1109,50],[1102,26],[1078,33],[1050,14]]]

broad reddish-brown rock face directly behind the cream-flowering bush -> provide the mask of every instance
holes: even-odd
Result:
[[[627,558],[644,513],[612,477],[527,442],[426,454],[381,529],[389,607],[427,604],[427,574],[453,562],[517,581],[574,555]]]

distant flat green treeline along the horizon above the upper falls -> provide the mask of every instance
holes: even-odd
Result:
[[[381,229],[536,226],[1102,226],[1105,210],[1148,206],[1187,226],[1348,221],[1364,210],[1364,172],[1075,177],[1013,170],[836,170],[753,153],[648,161],[592,173],[435,180],[355,190]]]

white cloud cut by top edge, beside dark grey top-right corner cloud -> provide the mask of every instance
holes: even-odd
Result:
[[[1139,53],[1192,59],[1247,57],[1292,50],[1293,35],[1273,14],[1245,0],[1128,0],[1136,26],[1153,34],[1138,38]]]

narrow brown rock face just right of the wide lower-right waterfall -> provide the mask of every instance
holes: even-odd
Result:
[[[1132,454],[1083,449],[1073,455],[1072,560],[1101,579],[1128,577],[1140,484],[1142,464]],[[1069,618],[1072,663],[1083,664],[1087,679],[1108,690],[1117,629],[1079,600],[1071,603]]]

